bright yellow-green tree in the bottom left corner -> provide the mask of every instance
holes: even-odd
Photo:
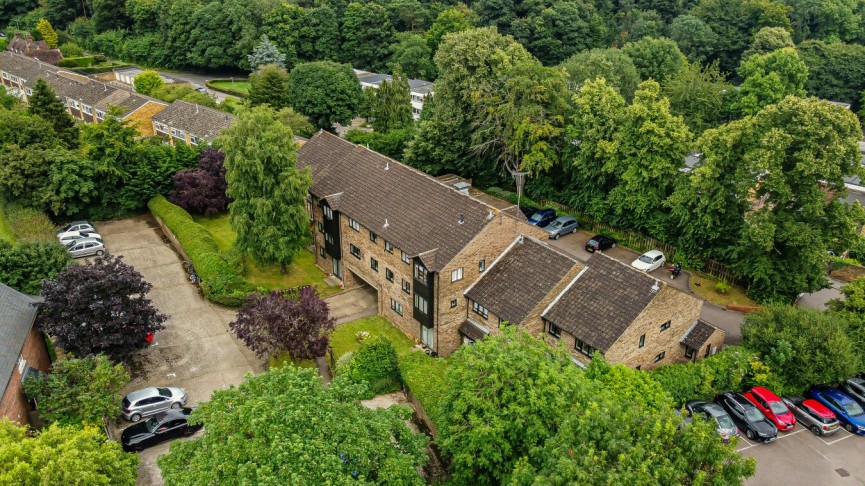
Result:
[[[61,427],[52,424],[34,435],[24,427],[0,419],[0,483],[135,484],[138,456],[105,440],[98,427]]]

